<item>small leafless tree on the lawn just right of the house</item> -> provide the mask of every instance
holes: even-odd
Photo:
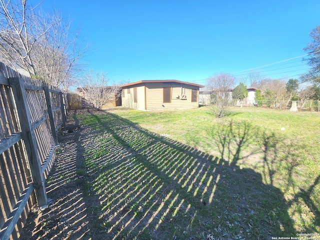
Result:
[[[228,112],[232,101],[230,92],[234,83],[234,76],[224,72],[207,79],[206,88],[212,90],[210,107],[216,117],[222,117]]]

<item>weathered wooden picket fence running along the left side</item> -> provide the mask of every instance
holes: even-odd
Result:
[[[48,203],[45,179],[57,129],[65,124],[57,88],[0,62],[0,239],[16,239],[34,203]]]

